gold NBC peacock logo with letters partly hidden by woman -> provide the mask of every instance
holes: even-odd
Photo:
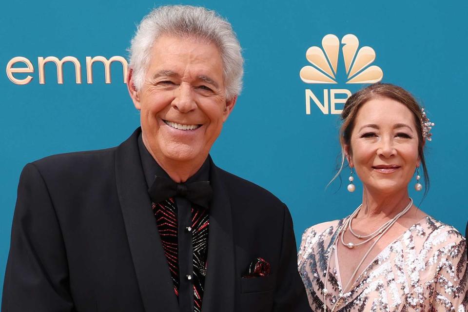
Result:
[[[384,73],[376,65],[375,51],[369,46],[359,48],[359,39],[352,34],[340,40],[329,34],[322,39],[322,48],[312,46],[307,49],[306,59],[312,64],[302,67],[299,77],[305,83],[338,84],[340,48],[343,55],[345,84],[374,83],[382,80]],[[344,79],[343,79],[344,80]],[[345,95],[343,98],[339,95]],[[337,97],[338,96],[338,97]],[[323,101],[320,101],[312,90],[306,89],[306,114],[311,114],[311,99],[323,114],[340,114],[342,110],[336,104],[343,104],[351,96],[348,89],[324,89]]]

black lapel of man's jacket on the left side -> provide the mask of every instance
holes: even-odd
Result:
[[[118,198],[145,310],[177,312],[174,283],[157,232],[138,152],[140,132],[138,128],[117,148]]]

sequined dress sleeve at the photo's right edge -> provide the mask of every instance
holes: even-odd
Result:
[[[467,242],[452,242],[438,263],[431,311],[466,312],[468,306]]]

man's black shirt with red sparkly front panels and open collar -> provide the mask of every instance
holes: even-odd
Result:
[[[144,146],[141,135],[138,147],[148,186],[154,177],[169,177]],[[209,180],[208,159],[187,182]],[[208,255],[209,210],[183,197],[152,203],[162,247],[174,283],[180,311],[201,312]],[[162,269],[162,268],[161,268]]]

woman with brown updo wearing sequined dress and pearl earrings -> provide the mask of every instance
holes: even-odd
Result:
[[[341,169],[347,162],[348,191],[361,179],[362,203],[302,236],[299,272],[312,310],[464,312],[466,240],[408,193],[413,176],[417,191],[421,176],[429,188],[424,146],[434,124],[409,92],[383,83],[348,98],[341,118]]]

